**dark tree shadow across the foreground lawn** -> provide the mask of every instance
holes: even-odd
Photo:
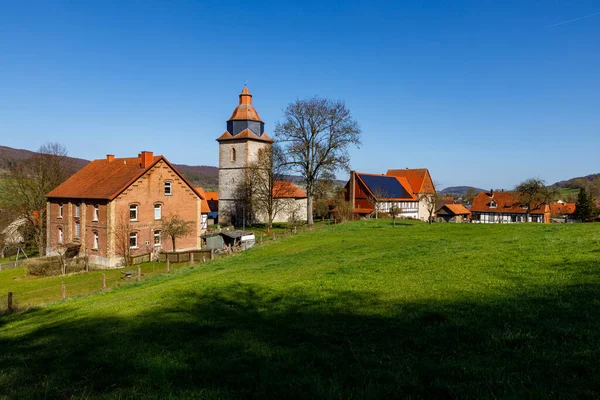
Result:
[[[0,397],[597,398],[599,287],[549,289],[391,303],[238,284],[131,318],[42,308],[0,339]]]

